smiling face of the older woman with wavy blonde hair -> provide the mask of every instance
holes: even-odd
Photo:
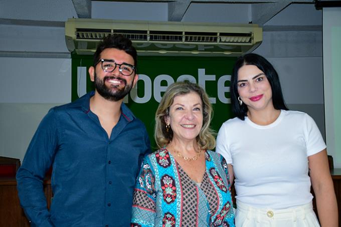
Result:
[[[173,130],[173,141],[195,140],[203,127],[203,103],[196,92],[176,96],[165,123]]]

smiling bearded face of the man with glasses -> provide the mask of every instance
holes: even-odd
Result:
[[[104,49],[100,54],[100,59],[113,60],[117,64],[134,65],[134,59],[130,55],[115,48]],[[116,66],[113,72],[104,72],[101,62],[96,65],[96,68],[90,67],[89,74],[91,81],[95,82],[96,93],[111,101],[123,99],[138,80],[135,72],[130,76],[122,75],[119,72],[119,66]]]

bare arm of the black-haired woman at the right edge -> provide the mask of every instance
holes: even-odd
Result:
[[[337,203],[329,172],[326,149],[308,156],[308,161],[321,227],[337,227]]]

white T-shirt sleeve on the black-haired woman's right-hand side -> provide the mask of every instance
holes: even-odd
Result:
[[[305,143],[307,156],[316,154],[326,148],[315,121],[308,114],[305,114]]]

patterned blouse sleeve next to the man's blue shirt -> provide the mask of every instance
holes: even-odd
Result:
[[[136,179],[133,195],[131,225],[152,227],[156,212],[155,175],[146,156]]]

